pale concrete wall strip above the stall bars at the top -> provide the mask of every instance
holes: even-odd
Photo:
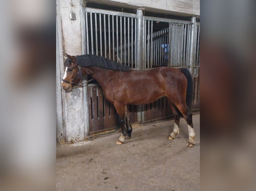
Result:
[[[113,5],[179,16],[200,16],[200,0],[90,0],[99,4]]]

